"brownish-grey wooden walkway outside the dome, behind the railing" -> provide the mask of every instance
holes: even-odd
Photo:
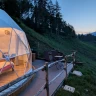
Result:
[[[35,60],[32,65],[37,69],[45,64],[46,61],[43,60]],[[67,65],[67,74],[72,70],[73,64],[68,63]],[[58,70],[56,66],[52,66],[49,68],[49,81],[51,81],[55,76],[57,76],[62,69]],[[49,96],[55,96],[55,91],[57,88],[60,86],[62,81],[65,79],[66,73],[63,71],[63,73],[49,86]],[[45,83],[45,72],[44,71],[38,71],[36,73],[35,78],[33,81],[30,83],[29,86],[26,87],[26,90],[23,90],[18,96],[34,96],[40,88],[44,85]],[[39,96],[47,96],[46,95],[46,90],[43,90]]]

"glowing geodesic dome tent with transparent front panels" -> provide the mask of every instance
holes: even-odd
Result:
[[[32,71],[31,56],[24,31],[0,9],[0,79],[13,80]]]

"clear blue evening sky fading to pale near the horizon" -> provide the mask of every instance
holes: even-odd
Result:
[[[53,3],[56,0],[52,0]],[[57,0],[63,19],[71,24],[76,33],[96,31],[96,0]]]

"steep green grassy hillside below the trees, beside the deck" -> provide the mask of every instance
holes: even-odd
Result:
[[[30,46],[34,51],[39,51],[38,55],[43,57],[45,50],[56,49],[65,55],[77,50],[77,60],[84,62],[83,66],[75,66],[76,70],[83,73],[82,77],[71,75],[66,84],[76,88],[74,94],[60,89],[57,96],[96,96],[96,46],[84,43],[78,39],[65,39],[53,35],[42,36],[34,30],[20,23],[22,29],[26,32]]]

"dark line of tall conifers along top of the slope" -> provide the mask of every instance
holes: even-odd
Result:
[[[0,8],[40,34],[76,37],[74,27],[63,19],[58,1],[53,4],[52,0],[1,0]]]

